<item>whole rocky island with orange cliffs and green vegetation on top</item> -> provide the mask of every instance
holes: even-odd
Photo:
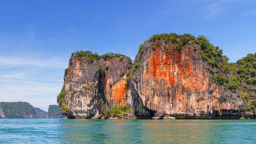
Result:
[[[57,103],[68,118],[254,118],[256,53],[228,61],[206,37],[175,33],[153,35],[134,63],[78,51]]]

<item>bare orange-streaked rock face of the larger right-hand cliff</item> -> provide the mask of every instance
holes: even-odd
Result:
[[[151,41],[143,49],[137,56],[140,67],[130,81],[130,97],[137,93],[143,105],[159,116],[241,117],[243,100],[215,84],[197,45],[185,45],[177,51],[172,43]]]

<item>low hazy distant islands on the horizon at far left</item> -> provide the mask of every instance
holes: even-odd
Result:
[[[58,105],[49,105],[48,112],[27,102],[0,102],[0,118],[63,118]]]

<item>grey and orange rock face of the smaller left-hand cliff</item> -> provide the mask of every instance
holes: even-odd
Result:
[[[114,104],[124,104],[127,95],[125,73],[131,65],[128,57],[91,60],[70,59],[64,79],[64,103],[75,117],[99,117]]]

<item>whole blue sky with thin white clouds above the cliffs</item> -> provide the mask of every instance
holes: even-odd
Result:
[[[56,104],[71,53],[134,59],[157,33],[205,35],[235,62],[255,53],[254,0],[0,0],[0,101]]]

